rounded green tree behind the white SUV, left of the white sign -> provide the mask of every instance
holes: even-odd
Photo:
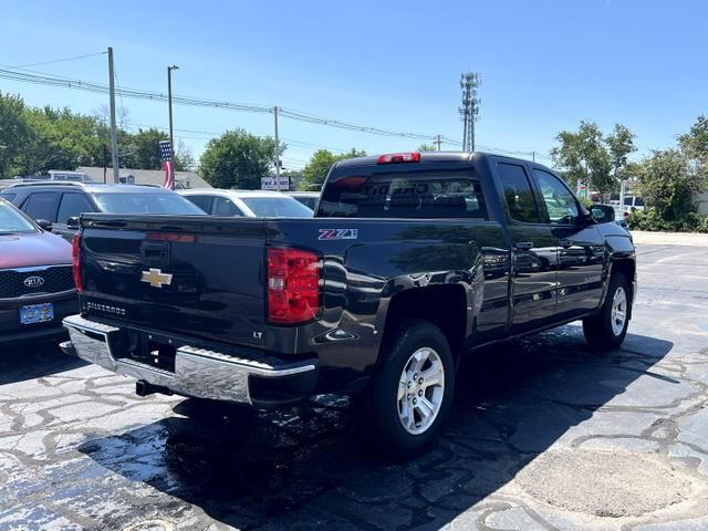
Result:
[[[280,152],[285,149],[281,144]],[[259,189],[261,177],[271,175],[275,140],[243,129],[227,131],[207,144],[198,173],[215,188]]]

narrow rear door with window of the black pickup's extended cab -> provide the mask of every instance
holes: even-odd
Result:
[[[558,288],[556,237],[543,222],[528,168],[519,162],[497,163],[512,246],[512,333],[552,322]]]

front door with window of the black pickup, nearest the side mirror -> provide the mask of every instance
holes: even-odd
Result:
[[[587,313],[600,305],[602,296],[605,267],[602,236],[563,180],[537,167],[533,179],[543,221],[551,227],[559,250],[559,319]]]

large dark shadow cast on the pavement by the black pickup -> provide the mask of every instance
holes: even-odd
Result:
[[[460,369],[445,434],[406,464],[372,458],[347,400],[326,397],[306,420],[185,400],[180,416],[80,450],[239,529],[437,529],[639,376],[675,385],[652,372],[671,347],[628,335],[622,350],[597,355],[571,325],[477,352]]]

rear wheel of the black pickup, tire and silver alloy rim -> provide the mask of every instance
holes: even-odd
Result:
[[[452,354],[440,329],[406,320],[381,355],[378,369],[356,405],[357,420],[374,452],[408,459],[435,439],[449,413]]]

